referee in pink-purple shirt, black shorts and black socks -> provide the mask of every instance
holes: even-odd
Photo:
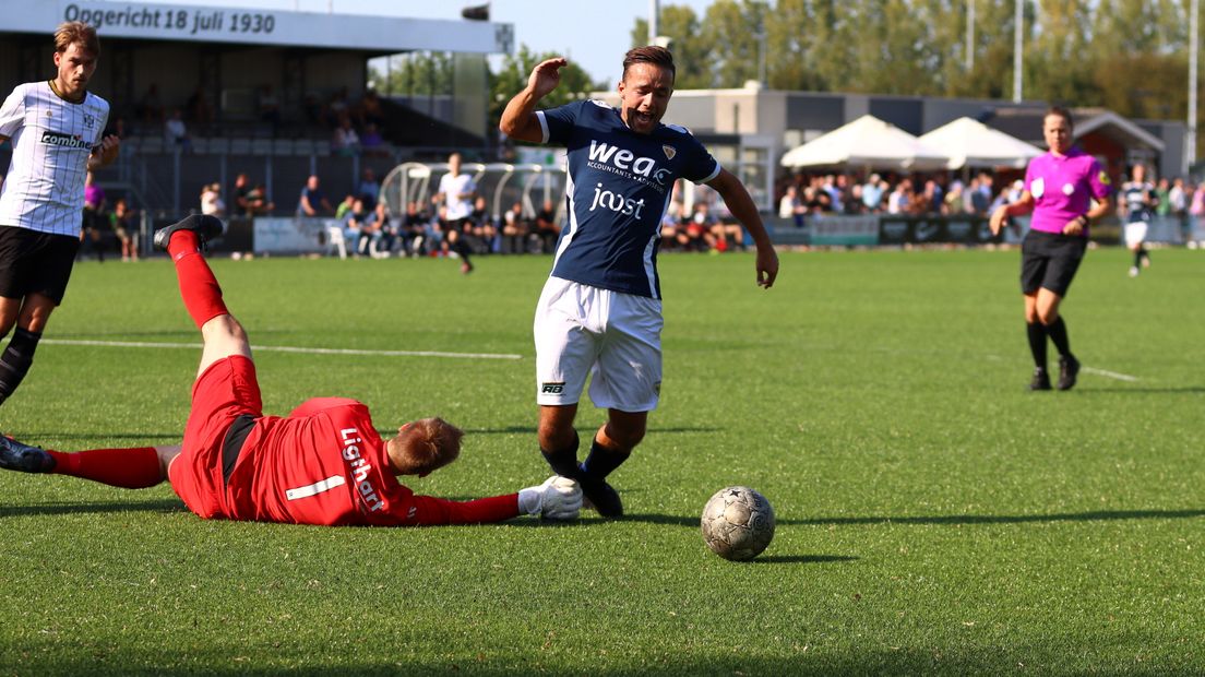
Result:
[[[1058,389],[1075,385],[1080,360],[1071,354],[1059,305],[1088,248],[1088,226],[1112,211],[1109,175],[1095,158],[1071,147],[1072,124],[1066,108],[1053,106],[1046,111],[1042,136],[1050,152],[1029,163],[1021,199],[992,212],[993,234],[1009,217],[1033,212],[1021,246],[1021,293],[1025,296],[1025,330],[1034,355],[1030,390],[1051,389],[1047,336],[1059,353]]]

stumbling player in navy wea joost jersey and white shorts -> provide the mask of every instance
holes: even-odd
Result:
[[[599,514],[619,517],[606,482],[645,436],[662,387],[660,222],[674,183],[715,188],[757,245],[757,283],[774,284],[775,254],[757,206],[740,179],[689,133],[662,124],[674,94],[674,57],[637,47],[623,60],[621,105],[577,101],[536,111],[568,61],[539,64],[506,105],[499,128],[511,139],[568,148],[568,223],[536,306],[539,441],[558,475],[577,479]],[[607,410],[584,463],[574,428],[587,375],[590,400]]]

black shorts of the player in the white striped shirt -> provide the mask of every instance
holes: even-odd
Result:
[[[80,239],[0,225],[0,296],[41,294],[63,302]]]

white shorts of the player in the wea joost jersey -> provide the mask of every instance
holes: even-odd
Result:
[[[549,277],[535,310],[536,402],[646,412],[662,390],[662,301]]]

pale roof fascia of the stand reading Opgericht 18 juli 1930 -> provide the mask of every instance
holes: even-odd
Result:
[[[96,27],[102,39],[170,40],[398,53],[417,49],[475,54],[513,51],[512,24],[325,14],[289,10],[108,2],[5,0],[0,33],[47,35],[65,20]]]

